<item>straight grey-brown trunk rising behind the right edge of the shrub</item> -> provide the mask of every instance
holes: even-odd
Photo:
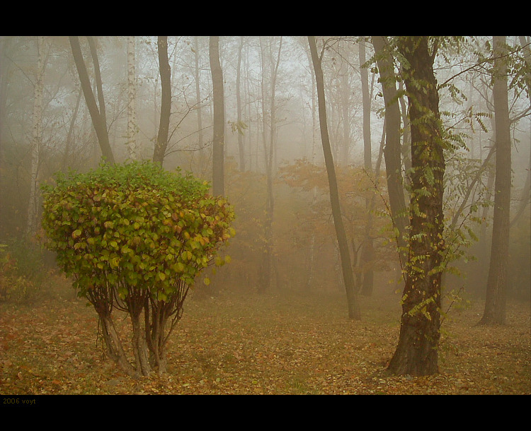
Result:
[[[214,124],[212,148],[212,194],[223,196],[224,186],[224,129],[225,111],[223,95],[223,71],[219,62],[219,36],[210,36],[210,72],[212,73],[212,97],[214,99]]]

